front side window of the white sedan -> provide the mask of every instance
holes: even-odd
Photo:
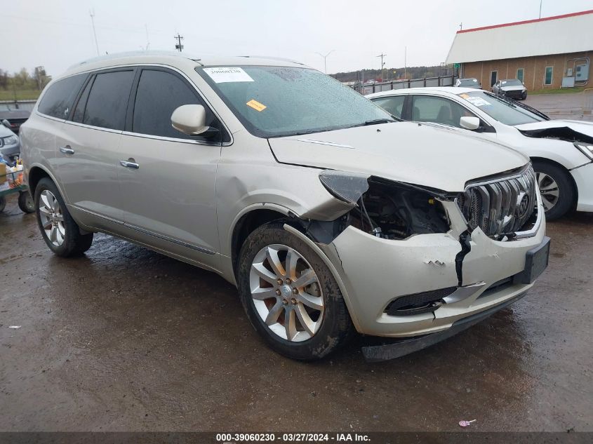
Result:
[[[443,123],[461,128],[459,121],[464,116],[476,117],[453,100],[430,95],[415,95],[413,97],[413,121]]]

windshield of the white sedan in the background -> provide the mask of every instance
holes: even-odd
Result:
[[[462,99],[467,100],[475,107],[484,111],[488,116],[498,120],[505,125],[521,125],[523,123],[541,122],[543,119],[528,109],[512,102],[500,99],[495,95],[484,93],[484,91],[472,91],[471,93],[458,94]]]

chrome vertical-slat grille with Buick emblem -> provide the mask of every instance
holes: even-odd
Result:
[[[537,206],[537,184],[531,164],[515,175],[467,185],[458,205],[469,228],[480,227],[495,239],[524,228]]]

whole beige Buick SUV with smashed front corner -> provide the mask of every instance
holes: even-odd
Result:
[[[526,157],[397,121],[296,62],[89,60],[20,131],[55,254],[102,231],[214,271],[291,358],[354,330],[392,338],[368,360],[401,356],[515,302],[547,266]]]

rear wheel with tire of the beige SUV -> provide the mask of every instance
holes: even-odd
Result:
[[[35,213],[41,236],[55,255],[78,256],[91,248],[93,233],[81,234],[58,187],[48,177],[35,189]]]

